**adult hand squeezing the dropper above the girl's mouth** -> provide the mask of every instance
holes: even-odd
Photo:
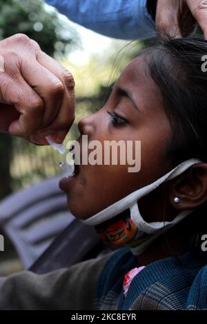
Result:
[[[0,41],[0,132],[62,143],[75,119],[75,81],[24,34]]]

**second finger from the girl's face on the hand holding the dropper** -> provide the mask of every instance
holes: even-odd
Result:
[[[45,104],[41,128],[49,125],[59,113],[64,94],[61,80],[37,61],[23,61],[21,74]]]

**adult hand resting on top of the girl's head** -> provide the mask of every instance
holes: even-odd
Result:
[[[156,29],[173,37],[187,37],[199,23],[207,40],[207,1],[157,0]]]

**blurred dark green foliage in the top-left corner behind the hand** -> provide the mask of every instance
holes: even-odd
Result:
[[[77,33],[48,10],[43,0],[0,0],[0,40],[23,33],[39,43],[41,49],[53,56],[70,51],[78,41]]]

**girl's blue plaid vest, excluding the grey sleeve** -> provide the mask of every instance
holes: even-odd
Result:
[[[112,254],[99,275],[96,310],[207,310],[207,258],[187,252],[155,261],[141,270],[124,296],[124,275],[137,267],[127,248]]]

